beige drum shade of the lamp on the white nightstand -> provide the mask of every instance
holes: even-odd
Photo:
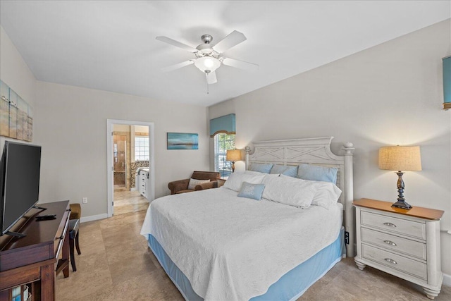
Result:
[[[420,147],[381,147],[379,169],[388,171],[421,171]]]

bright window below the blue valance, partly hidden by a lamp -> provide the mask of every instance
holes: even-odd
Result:
[[[228,177],[232,173],[232,162],[226,161],[227,149],[235,149],[235,135],[215,135],[214,170],[221,173],[221,178]]]

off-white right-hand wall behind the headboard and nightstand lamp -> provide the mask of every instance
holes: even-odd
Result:
[[[397,176],[378,169],[378,149],[420,145],[423,171],[404,174],[404,196],[413,206],[444,210],[440,226],[450,230],[451,111],[442,109],[441,60],[451,54],[450,25],[426,27],[211,106],[209,118],[236,114],[239,149],[259,140],[334,136],[333,152],[342,154],[342,143],[353,142],[356,199],[394,202]],[[450,238],[441,235],[448,275]]]

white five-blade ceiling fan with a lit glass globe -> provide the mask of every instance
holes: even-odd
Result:
[[[156,39],[161,42],[171,44],[175,47],[190,51],[194,54],[194,56],[196,56],[195,59],[190,59],[188,61],[176,63],[173,66],[163,68],[163,71],[172,71],[194,63],[194,66],[205,73],[207,85],[218,82],[218,80],[216,79],[215,71],[221,66],[221,64],[246,70],[257,70],[259,68],[259,65],[257,64],[238,61],[236,59],[230,59],[226,56],[223,56],[224,51],[236,46],[237,44],[240,44],[241,42],[245,42],[245,35],[236,30],[233,30],[233,32],[231,32],[227,37],[221,39],[221,41],[219,41],[217,44],[211,44],[211,41],[213,40],[213,37],[211,35],[202,35],[201,39],[203,43],[196,48],[175,41],[174,39],[171,39],[169,37],[160,36],[156,37]]]

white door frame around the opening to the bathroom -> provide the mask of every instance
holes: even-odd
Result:
[[[108,208],[107,216],[113,216],[114,178],[113,178],[113,125],[143,125],[149,127],[149,202],[155,199],[155,135],[154,123],[144,121],[124,121],[120,119],[106,119],[106,188]]]

